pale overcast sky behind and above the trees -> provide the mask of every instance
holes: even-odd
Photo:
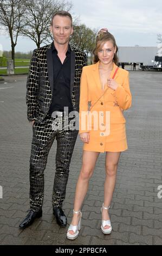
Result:
[[[107,27],[118,46],[157,46],[162,34],[161,0],[72,0],[73,11],[90,28]],[[10,39],[0,35],[3,50],[10,50]],[[22,39],[16,51],[34,50],[33,41]]]

